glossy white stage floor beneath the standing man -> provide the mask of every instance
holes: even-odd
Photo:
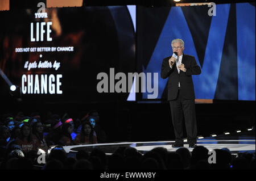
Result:
[[[84,144],[75,146],[63,146],[66,153],[72,157],[79,150],[86,150],[90,153],[94,148],[101,149],[107,155],[113,154],[119,147],[130,146],[144,154],[157,147],[166,148],[168,151],[176,151],[179,148],[172,148],[173,141],[152,141],[152,142],[114,142],[106,144]],[[227,148],[232,154],[243,152],[255,153],[255,136],[223,136],[223,137],[205,137],[197,139],[198,146],[205,146],[209,151],[214,149]],[[184,147],[188,148],[188,144],[184,141]],[[193,148],[188,148],[192,151]]]

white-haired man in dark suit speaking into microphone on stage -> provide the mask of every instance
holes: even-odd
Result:
[[[183,146],[183,117],[187,130],[188,144],[190,148],[196,146],[196,111],[195,92],[191,75],[201,73],[193,56],[183,54],[184,41],[181,39],[172,40],[174,56],[163,59],[161,77],[168,77],[168,100],[170,101],[172,124],[174,125],[175,144],[173,148]]]

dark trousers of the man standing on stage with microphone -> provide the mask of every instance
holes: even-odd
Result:
[[[175,100],[170,100],[172,124],[174,126],[175,142],[183,144],[183,118],[187,131],[188,144],[196,144],[196,110],[195,99],[183,99],[180,90]]]

